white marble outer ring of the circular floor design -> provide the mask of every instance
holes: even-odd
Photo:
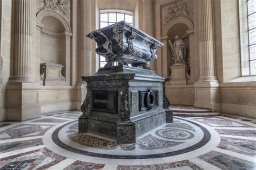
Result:
[[[179,118],[179,119],[181,119],[181,118]],[[162,158],[153,158],[153,159],[150,159],[150,158],[149,159],[110,159],[110,158],[90,157],[88,155],[81,155],[81,154],[78,154],[78,153],[75,153],[75,152],[65,150],[64,148],[59,147],[58,145],[56,145],[53,142],[52,133],[56,129],[63,126],[64,124],[68,124],[67,122],[63,123],[63,124],[59,124],[59,125],[53,127],[52,129],[50,129],[48,132],[46,132],[44,134],[44,137],[43,137],[43,142],[46,145],[46,147],[48,147],[51,151],[53,151],[55,153],[58,153],[60,155],[65,155],[66,157],[68,157],[70,159],[76,159],[76,160],[80,160],[80,161],[87,161],[87,162],[92,162],[92,163],[95,163],[95,164],[109,164],[109,165],[165,164],[165,163],[168,163],[168,162],[181,161],[181,160],[186,160],[186,159],[191,159],[191,158],[194,158],[194,157],[198,157],[199,155],[202,155],[202,154],[205,154],[207,152],[212,151],[214,148],[216,148],[218,146],[218,144],[220,143],[220,137],[219,137],[219,134],[217,133],[217,131],[215,131],[213,128],[211,128],[210,126],[207,126],[203,123],[193,121],[191,119],[189,119],[189,120],[183,119],[183,120],[188,121],[188,122],[192,122],[192,123],[196,123],[200,126],[203,126],[208,131],[210,131],[211,138],[207,142],[207,145],[201,146],[200,148],[197,148],[196,150],[193,150],[193,151],[190,151],[190,152],[187,152],[187,153],[181,153],[181,154],[179,153],[175,156],[162,157]],[[195,155],[194,153],[197,153],[197,155]]]

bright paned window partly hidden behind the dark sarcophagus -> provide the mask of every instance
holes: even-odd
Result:
[[[124,10],[100,10],[99,11],[99,27],[112,25],[124,20],[126,23],[133,25],[133,12]],[[99,56],[99,67],[104,67],[106,60],[104,56]]]

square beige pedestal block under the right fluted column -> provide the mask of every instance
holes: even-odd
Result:
[[[217,82],[197,82],[194,85],[194,107],[221,111],[220,87]]]

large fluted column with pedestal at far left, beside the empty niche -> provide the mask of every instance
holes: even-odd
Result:
[[[41,116],[38,86],[32,78],[33,0],[12,1],[12,76],[6,86],[6,120],[25,121]],[[38,28],[38,27],[37,27]],[[36,35],[33,35],[36,36]],[[33,45],[33,48],[36,46]],[[39,66],[38,66],[39,69]]]

